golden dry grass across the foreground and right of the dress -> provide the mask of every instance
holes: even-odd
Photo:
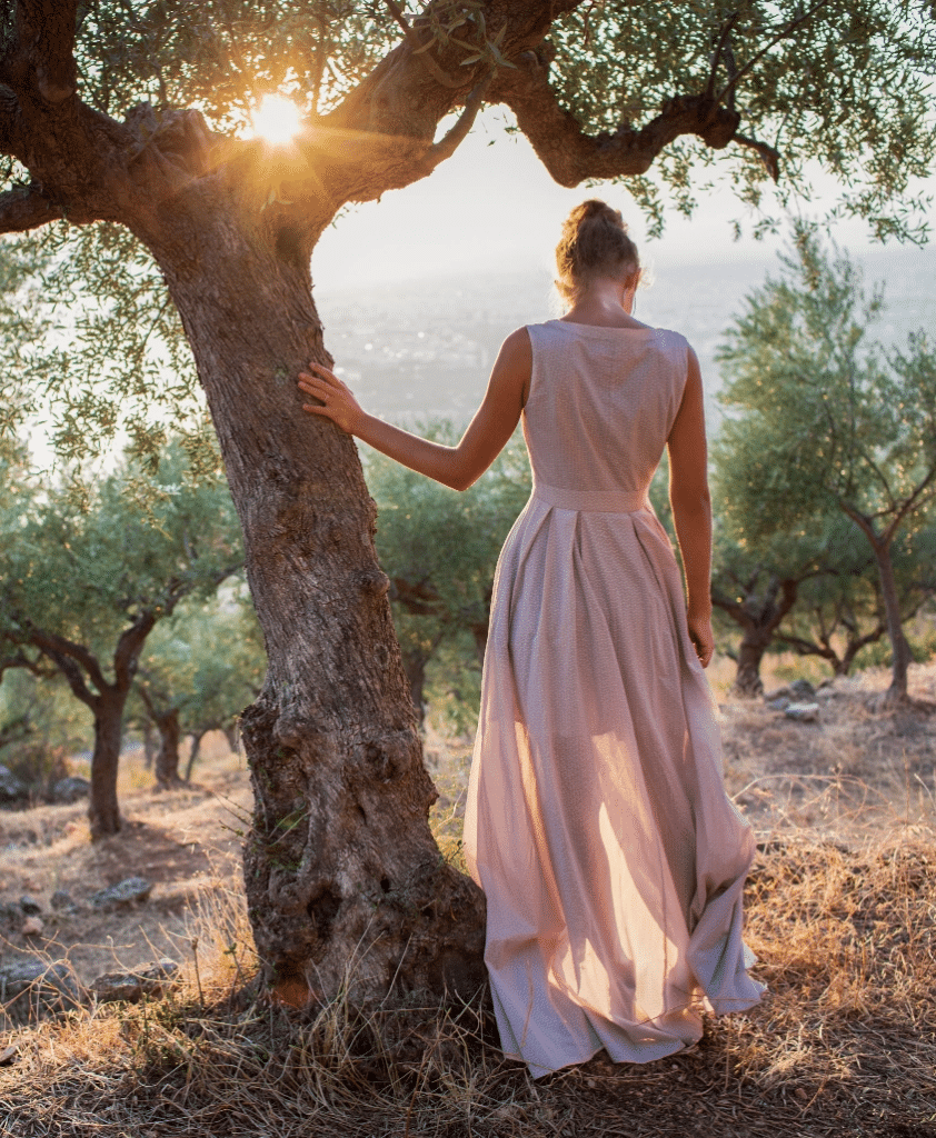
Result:
[[[837,685],[819,724],[725,707],[729,783],[762,839],[747,939],[770,992],[709,1021],[691,1052],[534,1083],[501,1057],[486,1003],[241,1000],[255,962],[224,879],[192,894],[175,933],[174,995],[0,1033],[0,1052],[19,1048],[0,1067],[0,1133],[936,1138],[936,717],[872,715],[879,679]],[[918,673],[918,694],[935,681]],[[467,750],[432,751],[434,824],[457,856]]]

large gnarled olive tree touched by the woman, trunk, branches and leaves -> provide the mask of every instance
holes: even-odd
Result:
[[[484,104],[507,108],[555,179],[626,180],[657,221],[716,175],[748,204],[775,178],[782,204],[818,163],[841,180],[840,213],[920,238],[930,7],[0,3],[0,231],[47,228],[50,297],[74,280],[91,319],[122,313],[110,331],[79,328],[69,358],[34,371],[52,385],[63,445],[85,422],[106,434],[125,418],[155,454],[149,406],[188,382],[161,366],[180,324],[217,430],[269,654],[241,720],[256,801],[245,880],[281,992],[337,991],[352,956],[369,992],[482,974],[483,899],[440,863],[428,830],[434,791],[360,462],[330,423],[298,413],[296,372],[329,360],[312,300],[318,238],[348,203],[430,175]],[[292,147],[237,135],[271,90],[305,116]],[[107,382],[125,396],[90,363],[108,335]],[[82,399],[87,414],[69,410]]]

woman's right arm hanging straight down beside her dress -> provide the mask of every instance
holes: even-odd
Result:
[[[715,646],[712,635],[712,498],[699,361],[689,349],[689,374],[670,438],[670,503],[688,593],[689,635],[703,667]]]

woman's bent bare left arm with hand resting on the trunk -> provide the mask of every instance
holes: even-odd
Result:
[[[487,470],[514,434],[532,369],[529,335],[520,328],[503,341],[484,399],[457,446],[430,443],[368,414],[348,387],[321,364],[310,363],[309,371],[299,374],[298,386],[321,401],[303,404],[304,411],[330,419],[348,435],[420,475],[465,490]]]

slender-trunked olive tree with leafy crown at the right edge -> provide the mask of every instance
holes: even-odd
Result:
[[[936,496],[936,352],[923,332],[902,351],[869,340],[880,291],[867,297],[856,266],[807,229],[782,265],[748,297],[720,352],[723,516],[750,547],[819,534],[834,510],[856,527],[893,650],[888,699],[905,699],[911,653],[893,551]]]

